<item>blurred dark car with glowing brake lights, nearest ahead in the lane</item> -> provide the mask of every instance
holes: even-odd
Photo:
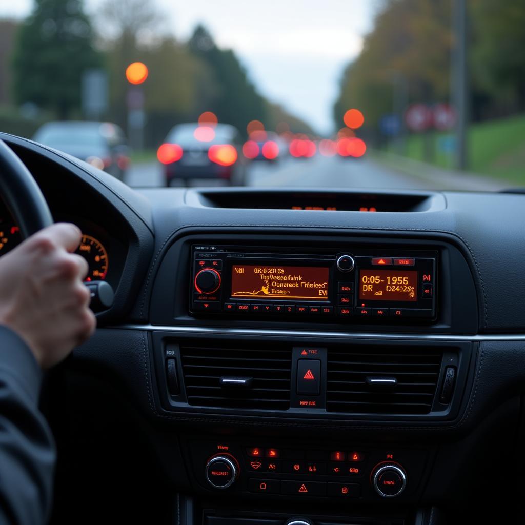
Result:
[[[157,151],[164,165],[166,186],[192,179],[217,179],[243,186],[246,160],[240,135],[229,124],[177,124]]]

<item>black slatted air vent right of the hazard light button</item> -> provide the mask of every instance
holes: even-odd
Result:
[[[435,348],[355,346],[331,350],[327,411],[428,414],[434,402],[441,360],[442,352]]]

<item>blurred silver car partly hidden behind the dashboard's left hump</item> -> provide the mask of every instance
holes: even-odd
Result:
[[[110,122],[47,122],[33,140],[86,161],[123,180],[130,148],[123,131]]]

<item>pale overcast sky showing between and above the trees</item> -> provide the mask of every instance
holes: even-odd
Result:
[[[96,12],[100,2],[87,0],[88,11]],[[341,72],[361,50],[376,0],[156,3],[178,38],[203,23],[219,46],[236,51],[262,95],[329,132]],[[32,0],[0,0],[0,17],[26,16],[32,5]]]

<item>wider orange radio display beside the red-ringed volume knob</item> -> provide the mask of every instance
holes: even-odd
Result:
[[[238,265],[232,267],[232,297],[328,300],[328,267]]]

